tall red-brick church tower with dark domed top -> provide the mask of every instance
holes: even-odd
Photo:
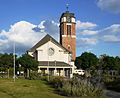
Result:
[[[76,58],[76,22],[74,13],[68,10],[60,17],[60,44],[72,53],[72,60]]]

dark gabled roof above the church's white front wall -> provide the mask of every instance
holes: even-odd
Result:
[[[51,37],[49,34],[47,34],[44,38],[42,38],[35,46],[33,46],[30,50],[28,51],[35,51],[36,48],[44,45],[45,43],[47,43],[48,41],[51,41],[53,43],[55,43],[57,46],[61,47],[62,49],[64,49],[66,52],[71,53],[69,50],[67,50],[65,47],[63,47],[60,43],[58,43],[53,37]]]

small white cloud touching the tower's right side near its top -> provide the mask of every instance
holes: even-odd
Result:
[[[93,29],[97,25],[91,22],[81,22],[80,20],[76,21],[76,28],[77,29]]]

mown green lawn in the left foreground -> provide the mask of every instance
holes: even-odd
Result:
[[[0,79],[0,98],[66,98],[40,80]]]

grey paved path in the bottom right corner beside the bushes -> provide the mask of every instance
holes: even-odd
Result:
[[[105,95],[108,96],[108,98],[120,98],[120,93],[111,91],[111,90],[105,90]]]

